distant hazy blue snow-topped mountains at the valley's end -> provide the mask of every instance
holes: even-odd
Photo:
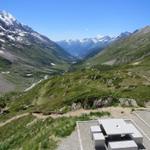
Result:
[[[96,50],[99,52],[114,40],[115,38],[113,37],[101,36],[82,40],[62,40],[57,43],[71,55],[77,58],[84,58],[92,52],[96,53]]]

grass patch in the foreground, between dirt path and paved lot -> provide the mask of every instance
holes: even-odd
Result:
[[[108,112],[91,113],[80,117],[37,119],[32,115],[17,119],[0,127],[0,150],[55,150],[61,138],[72,133],[76,121],[90,120]]]

